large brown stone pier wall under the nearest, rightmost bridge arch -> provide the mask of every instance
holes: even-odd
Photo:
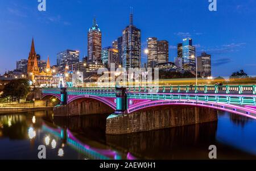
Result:
[[[107,119],[106,134],[129,134],[215,120],[217,120],[215,109],[194,106],[160,106]]]

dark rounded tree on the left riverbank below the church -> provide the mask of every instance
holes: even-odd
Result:
[[[20,99],[26,98],[28,91],[30,90],[30,85],[27,79],[17,79],[12,80],[9,84],[5,85],[3,89],[3,94],[5,97],[11,97],[12,101],[14,98]]]

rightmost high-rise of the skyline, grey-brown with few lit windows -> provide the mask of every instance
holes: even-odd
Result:
[[[197,68],[200,76],[212,76],[211,56],[205,52],[201,53],[201,56],[197,57]]]

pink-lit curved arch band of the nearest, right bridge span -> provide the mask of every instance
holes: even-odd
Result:
[[[138,112],[144,109],[150,109],[152,107],[159,106],[194,106],[194,107],[203,107],[208,109],[216,109],[221,111],[228,111],[233,114],[238,114],[246,116],[249,118],[256,119],[256,110],[242,105],[230,105],[227,103],[214,103],[214,102],[205,102],[205,101],[180,101],[180,100],[163,100],[163,101],[148,101],[139,103],[138,105],[133,105],[127,110],[128,113]]]

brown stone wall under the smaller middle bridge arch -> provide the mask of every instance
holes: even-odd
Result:
[[[114,106],[105,103],[104,99],[85,96],[69,98],[67,105],[53,109],[55,116],[112,114],[114,111]]]

